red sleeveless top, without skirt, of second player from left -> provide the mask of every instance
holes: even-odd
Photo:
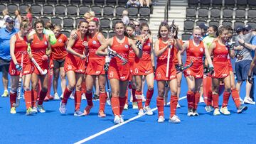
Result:
[[[48,41],[46,39],[46,35],[43,34],[43,39],[40,40],[38,38],[38,35],[33,34],[33,41],[31,43],[31,52],[36,60],[38,62],[38,65],[43,64],[42,56],[46,55],[46,49],[48,48]]]

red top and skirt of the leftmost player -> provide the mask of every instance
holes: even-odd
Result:
[[[23,67],[22,67],[23,73],[22,74],[23,75],[31,74],[31,61],[28,57],[28,52],[27,52],[28,40],[26,37],[24,37],[23,40],[21,40],[18,37],[18,33],[16,33],[15,36],[16,36],[16,43],[15,43],[14,55],[16,57],[16,60],[18,64],[21,65],[21,55],[23,54]],[[16,70],[14,61],[12,60],[9,67],[9,74],[12,76],[20,74],[20,72]]]

